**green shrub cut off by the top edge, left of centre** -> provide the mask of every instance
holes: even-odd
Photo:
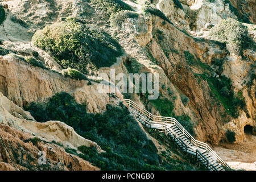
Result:
[[[133,10],[121,0],[90,0],[90,2],[97,4],[101,9],[108,11],[108,13],[117,13],[121,10]]]

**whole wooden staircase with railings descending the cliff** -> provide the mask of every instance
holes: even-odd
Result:
[[[187,130],[175,119],[153,115],[129,99],[123,99],[137,121],[146,129],[153,129],[163,134],[164,142],[175,143],[179,150],[192,156],[199,164],[203,164],[210,171],[226,171],[231,168],[210,148],[207,143],[200,142],[191,136]]]

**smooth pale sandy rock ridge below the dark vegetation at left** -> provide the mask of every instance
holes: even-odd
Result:
[[[0,123],[15,127],[20,131],[26,131],[38,138],[52,142],[61,142],[69,148],[79,146],[96,147],[97,151],[103,152],[97,143],[82,138],[74,129],[60,121],[36,122],[35,119],[19,106],[8,100],[0,93]]]

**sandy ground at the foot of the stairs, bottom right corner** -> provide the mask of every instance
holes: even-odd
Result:
[[[230,167],[256,171],[256,136],[246,134],[241,143],[222,143],[213,148]]]

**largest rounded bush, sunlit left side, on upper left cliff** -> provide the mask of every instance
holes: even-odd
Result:
[[[109,67],[122,55],[121,46],[100,28],[75,18],[39,30],[32,42],[67,69],[87,73],[88,69]]]

